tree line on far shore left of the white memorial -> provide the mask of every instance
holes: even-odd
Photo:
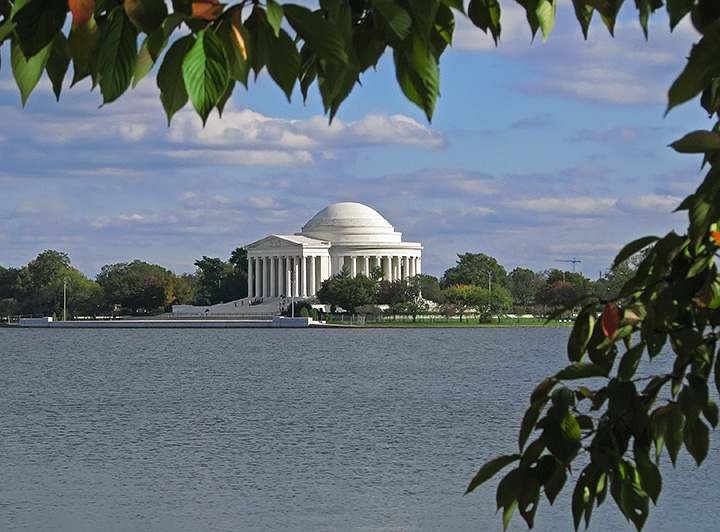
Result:
[[[203,256],[194,273],[176,275],[141,260],[106,264],[89,279],[67,253],[46,250],[20,268],[0,266],[0,315],[96,317],[157,314],[173,305],[213,305],[247,295],[247,253],[227,261]]]

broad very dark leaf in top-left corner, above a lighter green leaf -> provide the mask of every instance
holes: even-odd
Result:
[[[15,33],[26,57],[38,54],[55,39],[67,13],[67,2],[58,0],[31,0],[15,12]]]

